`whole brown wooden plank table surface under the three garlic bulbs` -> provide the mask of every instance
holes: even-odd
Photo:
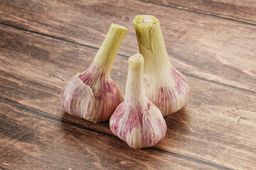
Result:
[[[0,169],[256,169],[256,1],[0,1]],[[131,149],[109,122],[65,113],[60,91],[111,23],[129,28],[112,69],[124,90],[132,19],[159,18],[191,99],[166,137]]]

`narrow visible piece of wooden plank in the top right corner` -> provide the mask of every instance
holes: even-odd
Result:
[[[230,18],[245,23],[256,24],[256,1],[232,1],[232,0],[146,0],[151,3],[162,4],[173,8],[188,11],[206,13],[213,16]]]

